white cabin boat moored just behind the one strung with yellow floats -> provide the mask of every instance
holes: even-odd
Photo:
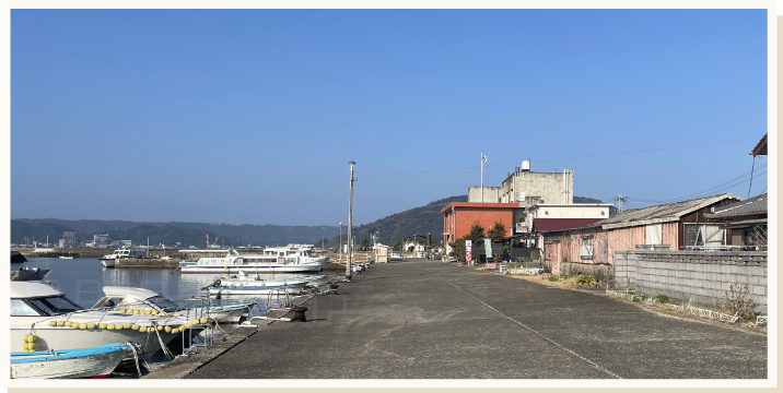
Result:
[[[238,323],[239,319],[256,306],[255,301],[213,305],[213,299],[191,299],[178,303],[150,289],[122,286],[105,286],[103,291],[106,296],[92,307],[93,310],[122,310],[125,313],[136,310],[150,314],[156,311],[157,314],[165,313],[187,320],[207,315],[218,323]]]

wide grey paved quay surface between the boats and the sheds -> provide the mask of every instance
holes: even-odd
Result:
[[[439,261],[376,264],[188,379],[767,379],[767,337]],[[241,327],[246,329],[246,327]],[[177,359],[179,360],[179,359]],[[177,361],[172,362],[172,366]]]

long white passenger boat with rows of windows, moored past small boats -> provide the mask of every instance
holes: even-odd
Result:
[[[197,254],[198,260],[179,262],[183,273],[297,273],[320,272],[328,258],[315,258],[311,245],[269,247],[261,253],[241,254],[236,250],[179,250]]]

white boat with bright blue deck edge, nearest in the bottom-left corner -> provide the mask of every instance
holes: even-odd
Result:
[[[11,353],[11,379],[106,378],[122,359],[133,356],[135,345]]]

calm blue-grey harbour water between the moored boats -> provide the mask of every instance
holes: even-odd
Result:
[[[209,294],[201,290],[211,284],[215,276],[212,274],[182,274],[178,270],[129,270],[105,267],[97,258],[78,258],[62,260],[58,258],[31,258],[27,262],[11,263],[11,270],[25,267],[50,269],[51,273],[45,279],[66,294],[84,308],[91,308],[101,299],[104,286],[129,286],[144,288],[163,294],[172,300],[182,300],[192,297],[204,297]],[[331,274],[334,273],[322,273]],[[304,277],[307,274],[276,274],[274,278]],[[265,275],[272,278],[272,275]],[[267,303],[266,295],[223,297],[224,302],[244,301],[253,299],[258,301],[260,308],[255,308],[252,315],[259,314]]]

